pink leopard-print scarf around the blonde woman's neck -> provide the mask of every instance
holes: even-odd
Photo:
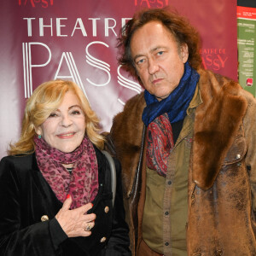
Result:
[[[73,200],[71,208],[74,209],[95,199],[98,192],[98,165],[95,149],[87,137],[71,153],[51,148],[43,138],[34,137],[34,142],[39,170],[59,201],[65,201],[67,194],[70,194]],[[72,174],[61,165],[71,163]]]

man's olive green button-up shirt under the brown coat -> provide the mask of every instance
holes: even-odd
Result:
[[[143,240],[157,253],[187,256],[188,172],[198,87],[189,103],[183,128],[168,159],[166,177],[147,168]]]

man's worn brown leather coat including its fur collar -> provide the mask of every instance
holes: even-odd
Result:
[[[198,72],[202,103],[189,160],[188,255],[256,255],[256,101],[236,82]],[[143,93],[131,98],[110,131],[122,164],[133,255],[142,239],[145,106]]]

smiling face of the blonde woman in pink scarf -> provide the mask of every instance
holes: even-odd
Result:
[[[50,113],[36,129],[49,146],[62,152],[73,152],[84,139],[85,117],[79,98],[73,91],[67,91],[59,108]]]

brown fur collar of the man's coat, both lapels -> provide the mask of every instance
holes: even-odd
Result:
[[[211,71],[199,70],[203,103],[195,111],[195,137],[192,151],[193,180],[209,189],[233,143],[247,109],[241,86]],[[124,111],[113,119],[111,137],[122,164],[124,190],[130,195],[142,143],[143,93],[132,97]]]

